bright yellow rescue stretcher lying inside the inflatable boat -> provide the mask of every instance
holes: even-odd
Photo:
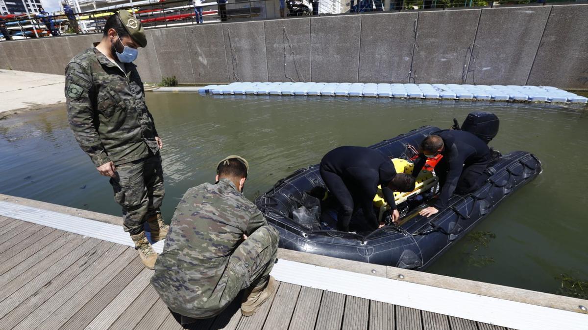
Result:
[[[396,173],[412,174],[412,170],[415,167],[415,164],[400,158],[392,159],[392,163],[394,163]],[[427,191],[436,185],[437,178],[433,176],[433,173],[431,171],[422,170],[420,171],[419,176],[416,177],[415,190],[410,191],[409,193],[400,193],[399,191],[395,191],[394,201],[396,202],[396,205],[398,205],[405,202],[409,197],[423,193],[424,191]],[[384,200],[381,186],[377,186],[376,196],[373,197],[373,205],[380,210],[377,216],[377,220],[382,221],[382,215],[387,210],[390,210],[390,206],[388,203],[386,203],[386,200]]]

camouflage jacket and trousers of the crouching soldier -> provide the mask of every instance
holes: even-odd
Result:
[[[277,249],[278,232],[232,181],[201,184],[178,204],[151,284],[172,311],[209,318],[265,284]]]

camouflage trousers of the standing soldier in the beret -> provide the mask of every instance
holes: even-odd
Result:
[[[165,188],[159,153],[116,166],[110,183],[116,203],[122,206],[125,231],[131,235],[143,231],[147,217],[159,213]]]

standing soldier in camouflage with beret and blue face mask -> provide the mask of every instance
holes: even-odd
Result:
[[[145,237],[165,237],[159,207],[164,194],[159,150],[163,147],[145,105],[143,83],[132,62],[147,39],[141,22],[121,11],[106,21],[94,47],[75,56],[65,69],[69,126],[103,176],[110,177],[122,206],[125,231],[131,234],[143,264],[153,269],[157,254]]]

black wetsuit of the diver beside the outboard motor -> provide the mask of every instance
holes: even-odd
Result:
[[[447,207],[447,201],[453,195],[467,194],[476,190],[488,178],[485,174],[490,163],[490,148],[472,133],[463,130],[442,130],[433,133],[443,139],[443,158],[435,166],[439,177],[441,191],[433,206],[437,209]],[[415,164],[413,176],[417,176],[425,165],[426,157],[420,154]]]

